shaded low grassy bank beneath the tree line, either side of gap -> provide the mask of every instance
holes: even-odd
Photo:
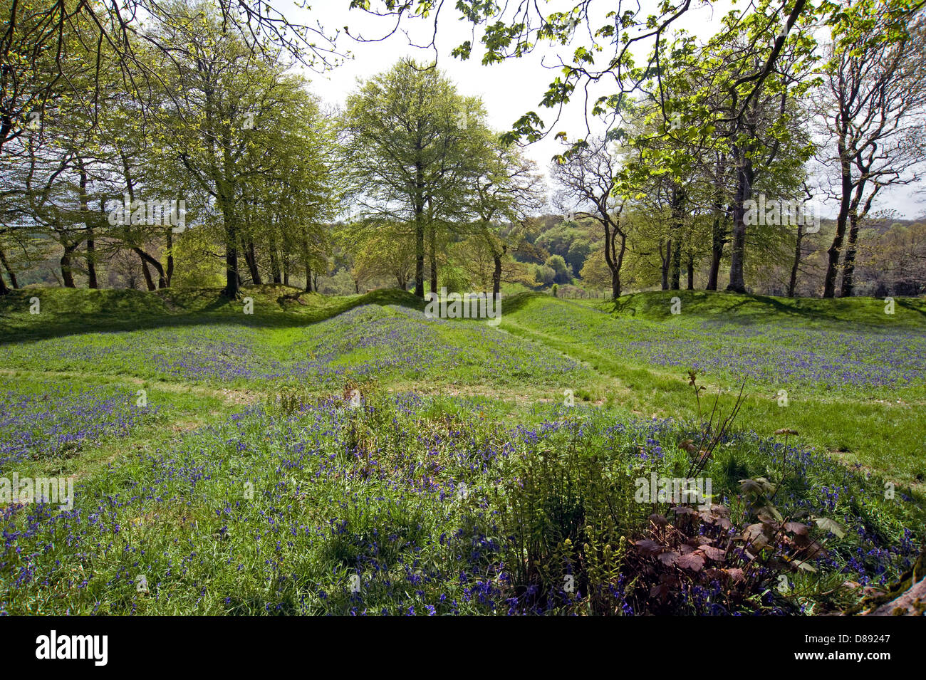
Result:
[[[41,314],[30,315],[31,299],[41,301]],[[244,314],[244,298],[254,301],[254,314]],[[668,320],[671,300],[682,302],[682,315],[697,315],[707,324],[749,326],[792,319],[864,326],[916,325],[926,317],[926,300],[896,298],[900,315],[885,315],[875,298],[775,298],[715,291],[648,291],[597,305],[553,298],[545,292],[523,292],[503,300],[503,315],[517,314],[534,301],[574,304],[583,310]],[[363,304],[399,305],[423,311],[424,302],[398,289],[326,298],[290,286],[247,286],[240,299],[229,300],[219,289],[160,291],[42,288],[11,291],[0,297],[0,345],[44,340],[86,332],[119,332],[145,328],[235,324],[249,328],[298,328],[344,314]]]

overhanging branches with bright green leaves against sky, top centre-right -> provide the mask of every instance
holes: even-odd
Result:
[[[926,0],[917,0],[921,5]],[[562,108],[569,103],[578,89],[587,94],[587,86],[593,82],[613,83],[615,92],[603,94],[592,100],[586,97],[589,108],[586,115],[593,116],[619,112],[632,93],[641,87],[644,80],[655,73],[661,79],[660,65],[667,62],[669,46],[664,41],[670,28],[678,25],[692,6],[691,0],[667,2],[652,11],[641,4],[618,6],[607,11],[604,19],[595,24],[600,16],[591,10],[592,0],[578,0],[563,11],[544,14],[541,3],[511,3],[499,5],[494,2],[457,3],[456,6],[439,0],[365,0],[352,2],[352,9],[359,9],[383,19],[390,24],[391,31],[397,31],[405,20],[425,19],[433,24],[432,39],[428,47],[436,51],[440,24],[447,20],[448,13],[455,11],[458,19],[467,21],[480,31],[482,63],[496,64],[508,58],[519,58],[531,54],[540,43],[569,45],[569,55],[558,56],[557,76],[552,80],[539,104],[544,108]],[[807,8],[807,0],[784,2],[782,7],[763,0],[755,5],[756,12],[768,23],[768,15],[782,16],[790,28],[802,14],[812,22],[817,18],[816,10]],[[807,10],[807,11],[805,11]],[[809,15],[813,14],[813,17]],[[836,3],[824,3],[820,14],[826,20],[838,20],[840,7]],[[749,15],[747,15],[748,18]],[[775,20],[772,23],[777,24]],[[774,32],[774,31],[772,31]],[[359,40],[364,38],[355,36]],[[751,61],[753,70],[744,74],[737,86],[744,86],[740,103],[747,108],[753,92],[745,87],[751,84],[761,89],[763,81],[776,68],[784,43],[783,36],[768,43],[768,47],[757,61]],[[632,54],[634,50],[645,51],[651,45],[652,51],[642,68],[636,68]],[[459,59],[469,59],[475,45],[466,40],[455,47],[451,54]],[[668,121],[668,116],[665,117]],[[508,142],[535,142],[544,137],[548,130],[536,111],[529,111],[506,133]]]

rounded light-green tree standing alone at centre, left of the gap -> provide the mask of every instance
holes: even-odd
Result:
[[[415,294],[424,296],[425,238],[437,283],[437,230],[458,215],[472,177],[470,148],[482,135],[482,104],[457,94],[436,68],[403,59],[347,98],[344,163],[358,216],[407,224],[415,247]]]

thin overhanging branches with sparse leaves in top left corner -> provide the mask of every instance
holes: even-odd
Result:
[[[87,63],[99,63],[106,54],[115,56],[132,99],[147,102],[159,89],[160,73],[145,53],[171,56],[178,45],[169,34],[144,31],[135,19],[144,16],[169,23],[178,11],[191,14],[182,7],[149,0],[119,4],[5,0],[0,5],[6,26],[0,33],[0,153],[6,142],[22,133],[26,114],[44,113],[45,105],[69,89],[62,56],[77,25],[95,29],[96,39],[86,43],[91,51]],[[198,12],[219,16],[220,31],[233,32],[248,44],[252,56],[275,60],[286,54],[312,68],[327,68],[341,57],[335,48],[337,33],[329,34],[320,25],[294,23],[259,0],[211,0],[195,6],[192,14]],[[98,97],[106,89],[106,82],[94,80],[89,92]]]

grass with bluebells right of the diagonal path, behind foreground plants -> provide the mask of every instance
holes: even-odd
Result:
[[[813,315],[824,301],[782,303],[789,310],[803,303],[805,318],[763,298],[676,294],[681,315],[671,315],[673,296],[666,293],[630,296],[616,309],[523,296],[503,315],[502,328],[594,366],[640,414],[694,417],[688,370],[701,371],[709,394],[721,390],[728,409],[745,383],[740,427],[765,433],[792,427],[847,463],[922,484],[926,325],[919,315],[898,313],[889,325],[882,303],[853,299],[840,301],[849,310],[843,321],[838,310],[835,317]]]

